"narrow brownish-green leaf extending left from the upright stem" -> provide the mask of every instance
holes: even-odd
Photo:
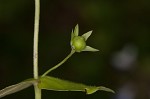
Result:
[[[21,91],[25,88],[28,88],[36,82],[37,82],[37,80],[35,80],[35,79],[28,79],[28,80],[25,80],[18,84],[8,86],[8,87],[0,90],[0,98],[4,97],[6,95],[9,95],[9,94],[13,94],[18,91]]]

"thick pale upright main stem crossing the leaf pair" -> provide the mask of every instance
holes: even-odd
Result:
[[[40,20],[40,0],[35,0],[35,18],[34,18],[34,45],[33,45],[33,75],[38,79],[38,35]],[[34,85],[35,99],[41,99],[41,89],[37,84]]]

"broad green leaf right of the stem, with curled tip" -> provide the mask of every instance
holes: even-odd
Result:
[[[53,90],[53,91],[82,91],[87,94],[92,94],[98,90],[113,92],[113,90],[106,87],[87,86],[81,83],[74,83],[67,80],[62,80],[50,76],[44,76],[40,78],[38,84],[40,89]]]

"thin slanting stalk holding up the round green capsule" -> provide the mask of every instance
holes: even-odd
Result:
[[[72,50],[71,52],[70,52],[70,54],[65,58],[65,59],[63,59],[60,63],[58,63],[57,65],[55,65],[54,67],[52,67],[52,68],[50,68],[49,70],[47,70],[43,75],[42,75],[42,77],[43,76],[46,76],[48,73],[50,73],[52,70],[54,70],[54,69],[56,69],[56,68],[58,68],[59,66],[61,66],[63,63],[65,63],[73,54],[75,53],[75,51],[74,50]]]

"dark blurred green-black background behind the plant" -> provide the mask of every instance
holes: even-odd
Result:
[[[0,0],[0,89],[31,78],[34,0]],[[73,55],[50,75],[116,94],[43,91],[43,99],[150,99],[150,0],[41,0],[40,74],[70,52],[70,34],[93,30],[99,52]],[[34,99],[33,87],[4,99]]]

